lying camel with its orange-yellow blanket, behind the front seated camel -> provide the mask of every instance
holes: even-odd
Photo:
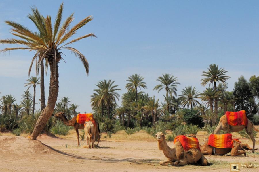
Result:
[[[245,150],[238,139],[232,139],[232,134],[210,134],[203,145],[200,145],[201,153],[205,155],[225,155],[230,152],[231,156],[244,154]]]

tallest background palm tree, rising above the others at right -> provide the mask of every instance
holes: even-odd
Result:
[[[205,72],[203,71],[202,76],[204,76],[205,78],[201,79],[201,85],[202,86],[206,86],[207,83],[209,83],[209,86],[212,85],[212,87],[214,88],[214,91],[217,91],[217,82],[222,82],[222,83],[227,83],[226,80],[228,80],[230,77],[226,76],[225,74],[228,71],[225,71],[225,69],[220,68],[218,69],[218,65],[216,64],[210,64],[209,67],[207,68],[208,71]],[[216,115],[218,115],[218,98],[215,98],[215,113]]]

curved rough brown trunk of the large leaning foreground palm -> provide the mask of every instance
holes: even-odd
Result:
[[[50,55],[51,56],[51,55]],[[60,54],[58,54],[58,59],[60,59]],[[37,136],[46,126],[47,121],[52,116],[52,113],[55,108],[56,101],[58,99],[58,61],[55,63],[53,56],[49,58],[50,66],[50,82],[49,82],[49,97],[47,106],[41,111],[33,132],[31,134],[31,140],[36,140]],[[56,71],[55,71],[56,70]]]

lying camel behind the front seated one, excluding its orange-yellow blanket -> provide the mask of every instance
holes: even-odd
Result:
[[[246,156],[245,150],[240,142],[233,140],[233,148],[215,148],[208,145],[209,139],[206,138],[205,143],[200,145],[201,153],[205,155],[225,155],[230,152],[230,156],[237,156],[244,154]],[[213,150],[215,149],[215,150]]]

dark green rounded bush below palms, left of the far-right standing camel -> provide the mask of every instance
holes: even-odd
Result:
[[[194,109],[184,109],[182,110],[184,113],[184,121],[187,122],[188,124],[193,124],[193,125],[198,125],[199,127],[203,127],[203,119],[202,117],[199,115],[199,111],[198,110],[194,110]]]

